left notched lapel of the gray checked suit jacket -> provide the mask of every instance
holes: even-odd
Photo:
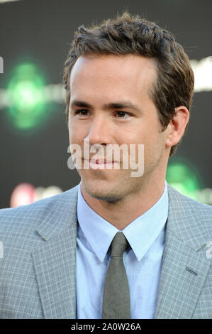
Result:
[[[45,318],[76,318],[77,188],[56,198],[32,253]]]

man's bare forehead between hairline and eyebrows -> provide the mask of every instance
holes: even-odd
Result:
[[[80,56],[70,75],[71,95],[92,92],[147,92],[157,78],[155,61],[140,55]],[[96,92],[97,92],[96,91]]]

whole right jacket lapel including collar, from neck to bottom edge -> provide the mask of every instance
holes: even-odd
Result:
[[[169,218],[155,318],[189,319],[210,268],[204,247],[208,228],[196,203],[168,189]]]

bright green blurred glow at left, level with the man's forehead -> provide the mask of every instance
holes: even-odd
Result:
[[[9,119],[18,129],[31,129],[46,117],[43,75],[32,63],[17,65],[8,86]]]

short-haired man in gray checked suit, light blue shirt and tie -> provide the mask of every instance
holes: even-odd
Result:
[[[194,89],[182,46],[125,12],[79,27],[64,81],[81,183],[1,210],[1,318],[212,318],[211,207],[165,182]],[[132,156],[108,158],[123,144],[134,145],[141,176],[123,168]]]

